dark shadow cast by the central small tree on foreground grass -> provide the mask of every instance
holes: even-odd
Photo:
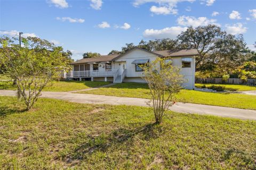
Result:
[[[162,125],[154,123],[146,124],[145,126],[135,129],[116,129],[110,132],[109,135],[106,135],[105,133],[101,133],[100,135],[89,135],[86,143],[82,143],[82,145],[76,147],[76,149],[68,153],[63,160],[75,165],[77,162],[72,163],[73,160],[82,160],[97,151],[105,152],[109,148],[129,150],[129,148],[134,145],[134,137],[140,138],[141,140],[156,139],[162,132]]]

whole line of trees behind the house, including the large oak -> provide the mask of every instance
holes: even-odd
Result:
[[[250,66],[256,62],[256,53],[246,47],[243,35],[231,35],[213,24],[189,27],[181,32],[177,39],[141,40],[138,45],[125,44],[121,51],[111,50],[108,55],[123,54],[133,47],[149,51],[196,48],[199,53],[196,58],[196,71],[199,77],[222,77],[223,75],[241,77],[241,68],[246,67],[247,70],[254,71],[254,67]],[[85,53],[85,56],[97,57],[100,54]],[[248,78],[256,78],[255,73],[252,72],[246,74],[250,75]]]

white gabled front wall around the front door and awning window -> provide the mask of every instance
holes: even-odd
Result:
[[[134,60],[138,59],[149,59],[149,62],[156,60],[157,55],[145,52],[140,49],[135,49],[130,53],[118,58],[115,62],[125,62],[126,63],[126,77],[141,77],[143,72],[135,71],[135,64],[132,64]],[[119,65],[119,63],[118,63]],[[116,66],[116,65],[115,65]]]

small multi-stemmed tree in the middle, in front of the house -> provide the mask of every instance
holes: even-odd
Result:
[[[166,111],[175,103],[175,94],[182,88],[183,76],[178,67],[162,58],[142,66],[142,69],[142,78],[148,83],[151,94],[148,104],[153,108],[156,123],[161,123]]]

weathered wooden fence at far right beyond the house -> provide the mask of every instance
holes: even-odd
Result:
[[[195,83],[213,83],[213,84],[246,84],[250,86],[256,85],[256,79],[247,79],[244,82],[241,79],[230,78],[227,82],[223,82],[222,78],[195,78]]]

